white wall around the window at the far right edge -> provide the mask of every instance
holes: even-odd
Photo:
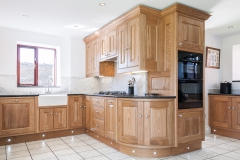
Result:
[[[232,46],[237,44],[240,44],[240,34],[223,38],[223,54],[221,56],[223,63],[220,64],[223,81],[232,81]],[[232,89],[240,89],[240,82],[233,82]]]

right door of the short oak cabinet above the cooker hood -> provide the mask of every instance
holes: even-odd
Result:
[[[108,57],[117,56],[117,32],[116,29],[108,32],[107,34],[107,49]]]

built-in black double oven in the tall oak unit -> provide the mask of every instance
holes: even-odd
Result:
[[[178,108],[203,107],[203,55],[178,52]]]

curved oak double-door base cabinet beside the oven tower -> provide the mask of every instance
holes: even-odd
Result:
[[[173,100],[118,99],[118,141],[133,145],[174,145]]]

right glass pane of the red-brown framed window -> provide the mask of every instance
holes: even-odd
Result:
[[[55,51],[38,49],[38,85],[54,85],[54,58]]]

